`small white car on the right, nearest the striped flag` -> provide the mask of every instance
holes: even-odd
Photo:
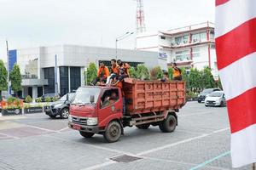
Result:
[[[226,105],[226,99],[223,91],[216,91],[209,94],[205,101],[206,106],[221,106]]]

